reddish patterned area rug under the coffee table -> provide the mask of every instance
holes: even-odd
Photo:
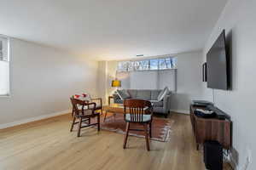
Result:
[[[104,118],[101,117],[101,129],[125,134],[125,121],[123,115],[117,114],[116,116],[108,116],[106,122],[103,122],[103,120]],[[96,122],[96,119],[91,122]],[[151,140],[168,142],[170,140],[170,133],[172,132],[172,123],[173,121],[167,118],[153,117]],[[143,129],[142,125],[136,123],[131,123],[130,127]],[[141,131],[130,131],[129,135],[145,138],[144,133]]]

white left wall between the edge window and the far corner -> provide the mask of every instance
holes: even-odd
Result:
[[[10,60],[11,96],[0,98],[0,127],[67,111],[72,94],[96,95],[96,61],[18,39],[10,40]]]

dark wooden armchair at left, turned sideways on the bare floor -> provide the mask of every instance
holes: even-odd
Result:
[[[88,103],[83,100],[74,99],[73,97],[71,97],[70,100],[73,105],[73,111],[74,111],[73,122],[71,125],[70,132],[73,131],[73,126],[77,123],[79,123],[78,137],[80,136],[80,130],[83,127],[90,127],[90,126],[97,125],[98,131],[100,131],[100,113],[95,111],[96,103]],[[95,116],[97,116],[97,122],[90,123],[90,118]],[[79,120],[79,122],[76,122],[77,119]],[[86,125],[82,126],[82,122],[85,122]]]

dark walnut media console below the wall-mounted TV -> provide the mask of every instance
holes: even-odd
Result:
[[[219,120],[218,118],[201,118],[195,116],[195,107],[190,105],[190,119],[195,134],[197,150],[199,144],[206,140],[216,140],[223,145],[224,149],[230,150],[231,147],[231,121]],[[203,109],[203,108],[200,108]]]

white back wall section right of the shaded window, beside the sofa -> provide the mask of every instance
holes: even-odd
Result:
[[[189,113],[191,99],[202,99],[201,51],[177,54],[177,93],[172,95],[173,111]]]

